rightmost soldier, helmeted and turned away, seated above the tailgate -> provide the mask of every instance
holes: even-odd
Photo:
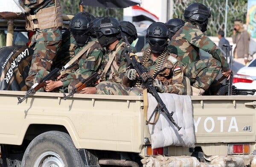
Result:
[[[204,32],[207,30],[209,9],[201,3],[192,3],[185,12],[185,25],[172,37],[171,45],[177,48],[182,60],[184,74],[201,93],[209,88],[222,68],[222,74],[230,78],[230,69],[221,50]],[[213,58],[200,60],[199,49],[209,52]]]

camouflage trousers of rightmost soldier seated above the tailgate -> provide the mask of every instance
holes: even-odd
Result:
[[[221,63],[212,58],[199,60],[184,66],[184,75],[189,78],[190,84],[198,89],[207,90],[217,77]]]

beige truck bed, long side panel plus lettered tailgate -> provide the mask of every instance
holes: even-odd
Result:
[[[37,92],[17,105],[21,91],[0,91],[0,143],[20,145],[35,124],[66,128],[76,148],[142,153],[150,138],[143,96],[80,95],[64,101],[61,93]],[[256,96],[192,96],[196,145],[206,155],[227,153],[227,143],[254,146]],[[255,104],[254,104],[255,105]],[[36,131],[36,130],[35,130]],[[208,146],[217,144],[216,149]],[[221,148],[221,149],[220,149]],[[254,149],[253,149],[254,150]],[[253,151],[251,150],[251,151]],[[188,148],[169,147],[169,155],[189,155]]]

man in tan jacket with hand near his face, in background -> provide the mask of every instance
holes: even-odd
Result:
[[[241,20],[236,20],[234,23],[232,39],[233,43],[236,43],[236,47],[234,49],[234,60],[239,63],[246,64],[249,62],[248,55],[250,35],[244,29]]]

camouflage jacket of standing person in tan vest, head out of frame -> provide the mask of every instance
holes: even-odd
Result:
[[[36,14],[40,9],[55,5],[55,0],[25,0],[21,4],[30,14]],[[31,43],[36,41],[54,41],[61,40],[61,28],[54,27],[50,29],[36,29],[32,36]]]

